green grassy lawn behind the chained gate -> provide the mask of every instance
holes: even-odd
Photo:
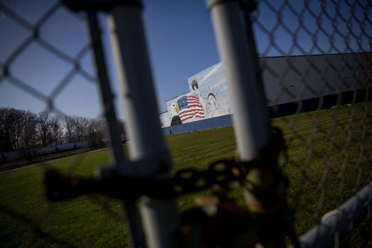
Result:
[[[371,103],[368,109],[372,109]],[[365,106],[359,104],[334,112],[322,110],[273,120],[273,126],[282,129],[288,145],[288,157],[282,154],[279,165],[289,175],[288,202],[296,210],[298,235],[371,180],[372,117],[370,113],[365,116],[367,113]],[[213,161],[234,157],[236,149],[231,127],[165,138],[175,170],[190,167],[203,170]],[[127,150],[127,144],[124,149]],[[102,150],[0,174],[1,245],[125,247],[128,238],[120,200],[80,196],[50,203],[43,193],[42,175],[49,167],[90,177],[94,168],[109,163],[108,152]],[[193,199],[199,195],[210,193],[180,197],[177,199],[180,209],[194,205]],[[241,188],[232,189],[231,196],[244,205]],[[371,221],[364,221],[344,245],[365,247],[371,233]]]

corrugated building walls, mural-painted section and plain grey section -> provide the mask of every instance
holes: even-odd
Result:
[[[357,56],[360,54],[259,58],[267,106],[361,88],[355,78]],[[187,83],[189,92],[166,101],[167,112],[159,115],[162,127],[234,113],[222,62],[188,78]]]

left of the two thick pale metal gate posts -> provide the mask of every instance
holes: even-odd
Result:
[[[140,1],[124,1],[109,11],[108,24],[120,81],[130,157],[145,161],[132,168],[133,175],[169,174],[172,166],[160,129],[153,78],[141,18]],[[174,200],[143,197],[141,212],[150,247],[175,247],[180,215]]]

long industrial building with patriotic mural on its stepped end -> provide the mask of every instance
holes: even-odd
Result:
[[[362,101],[364,98],[359,95],[370,83],[365,76],[368,67],[365,64],[370,64],[368,55],[370,53],[259,58],[270,116],[298,112],[300,102],[300,112],[304,112],[318,109],[320,103],[323,109],[346,100],[350,103],[354,94]],[[167,111],[159,115],[164,134],[232,125],[230,115],[234,109],[230,99],[234,96],[228,92],[222,62],[193,75],[187,83],[190,90],[167,100]]]

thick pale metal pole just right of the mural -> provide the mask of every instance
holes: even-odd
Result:
[[[263,111],[257,79],[258,58],[252,54],[248,44],[252,42],[245,35],[238,1],[206,0],[217,39],[218,51],[224,62],[228,90],[234,114],[235,139],[240,160],[249,161],[257,156],[260,148],[268,143],[270,124]],[[274,183],[273,170],[257,168],[250,171],[247,178],[255,187],[268,189]],[[272,193],[272,192],[271,192]],[[250,191],[245,190],[246,203],[252,212],[266,212],[267,206]]]

